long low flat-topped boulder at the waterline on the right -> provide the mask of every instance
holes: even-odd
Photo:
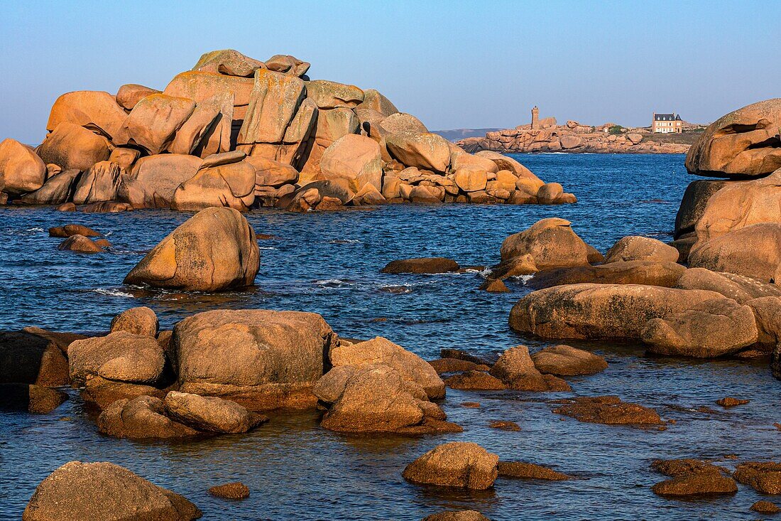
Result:
[[[704,289],[633,284],[572,284],[539,289],[510,311],[510,327],[544,338],[638,340],[652,318],[666,318],[704,300]]]

